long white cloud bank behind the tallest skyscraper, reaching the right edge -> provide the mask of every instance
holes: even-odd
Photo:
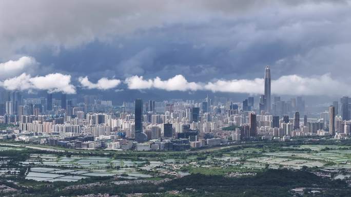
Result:
[[[128,89],[159,89],[166,91],[212,91],[228,93],[263,94],[264,79],[215,80],[208,83],[188,82],[183,75],[176,75],[167,80],[159,77],[144,79],[133,76],[125,80]],[[277,95],[347,95],[351,91],[347,85],[330,77],[330,74],[313,77],[287,75],[271,81],[272,94]]]

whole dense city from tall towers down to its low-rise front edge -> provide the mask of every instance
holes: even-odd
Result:
[[[1,93],[0,121],[12,126],[0,138],[72,148],[184,150],[232,141],[350,135],[351,100],[334,101],[328,110],[308,117],[302,97],[271,97],[271,74],[264,73],[259,102],[208,97],[157,102],[135,99],[113,106],[101,96],[22,98]],[[340,110],[339,110],[340,108]]]

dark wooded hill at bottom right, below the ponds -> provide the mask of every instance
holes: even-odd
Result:
[[[255,177],[228,178],[192,174],[164,184],[168,190],[195,189],[188,196],[291,196],[290,189],[296,187],[320,187],[348,190],[344,181],[324,179],[308,171],[268,169]]]

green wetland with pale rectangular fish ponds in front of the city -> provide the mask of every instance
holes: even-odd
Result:
[[[147,187],[150,193],[160,190],[163,194],[169,194],[167,187],[179,180],[188,182],[199,176],[203,176],[201,180],[258,179],[262,173],[277,171],[287,174],[308,172],[309,176],[327,182],[341,181],[347,191],[351,180],[349,141],[259,142],[184,152],[54,149],[27,144],[0,144],[2,183],[17,188],[18,196],[36,196],[47,187],[56,188],[57,195],[52,196],[74,196],[74,190],[96,183],[102,185],[92,187],[95,190],[107,187],[118,194],[130,192],[128,189],[132,188],[131,185],[136,190]],[[301,194],[297,186],[300,185],[284,188],[294,196]],[[171,190],[180,192],[176,196],[187,196],[191,190],[184,190],[186,188],[188,186],[177,186]],[[210,188],[201,188],[201,192],[207,192]],[[302,193],[308,189],[312,187],[305,186]],[[30,192],[24,194],[26,190]],[[317,190],[320,193],[329,191],[327,188]],[[44,192],[41,196],[49,195]]]

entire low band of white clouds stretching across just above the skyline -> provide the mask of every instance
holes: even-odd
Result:
[[[213,79],[210,82],[190,82],[183,75],[175,75],[166,80],[160,77],[145,79],[143,76],[120,79],[101,78],[96,83],[89,78],[80,77],[77,80],[83,89],[110,90],[115,92],[123,90],[123,85],[129,90],[164,90],[164,91],[211,91],[223,93],[241,93],[259,95],[264,92],[264,79]],[[75,94],[76,87],[71,84],[71,76],[53,73],[45,76],[31,77],[23,73],[17,77],[8,78],[0,85],[6,90],[33,91],[43,90],[50,93],[63,92]],[[122,88],[122,89],[121,89]],[[308,96],[342,96],[349,95],[351,91],[344,82],[333,79],[330,74],[321,76],[301,77],[286,75],[271,81],[271,92],[275,95],[308,95]]]

